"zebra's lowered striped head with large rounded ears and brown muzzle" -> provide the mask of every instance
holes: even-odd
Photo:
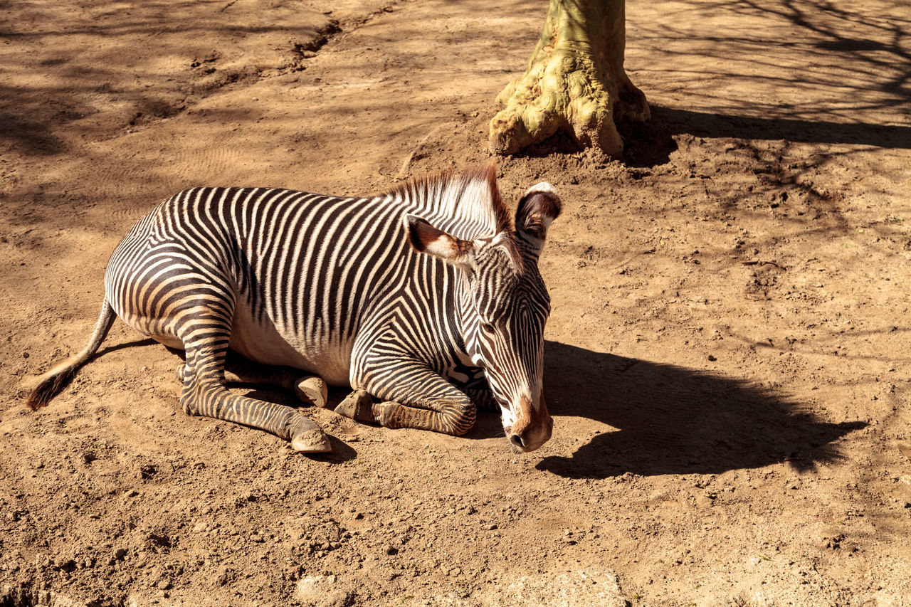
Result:
[[[560,208],[557,193],[542,182],[519,201],[515,231],[507,221],[496,234],[469,241],[424,220],[409,220],[415,249],[455,265],[466,279],[461,290],[466,353],[485,370],[515,452],[541,447],[553,429],[542,381],[550,297],[537,259]]]

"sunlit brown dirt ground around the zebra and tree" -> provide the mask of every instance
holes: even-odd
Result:
[[[626,158],[499,160],[565,208],[539,451],[306,410],[334,453],[303,457],[186,417],[179,356],[119,322],[26,409],[158,201],[486,159],[545,8],[0,1],[0,605],[911,605],[898,0],[629,0]]]

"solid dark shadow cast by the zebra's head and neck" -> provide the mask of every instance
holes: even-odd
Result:
[[[838,459],[834,441],[866,426],[822,421],[744,380],[557,342],[545,346],[544,376],[555,433],[559,417],[616,428],[601,429],[569,457],[537,464],[569,478],[720,474],[780,462],[809,470]]]

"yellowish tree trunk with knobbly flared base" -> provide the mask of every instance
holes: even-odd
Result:
[[[523,76],[496,101],[490,121],[498,154],[568,132],[579,145],[619,156],[616,118],[647,120],[649,103],[623,70],[625,0],[550,0],[544,29]]]

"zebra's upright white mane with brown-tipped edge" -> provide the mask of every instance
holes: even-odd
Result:
[[[404,199],[415,215],[465,240],[512,234],[512,221],[496,188],[496,163],[469,166],[411,180],[389,192]]]

